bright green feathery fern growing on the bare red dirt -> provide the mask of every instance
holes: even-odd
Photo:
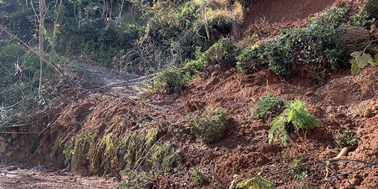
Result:
[[[272,127],[268,133],[269,143],[280,141],[286,146],[290,140],[288,131],[291,128],[288,126],[292,124],[296,132],[298,129],[314,129],[318,122],[319,120],[306,110],[306,105],[301,100],[291,101],[288,108],[272,121]]]

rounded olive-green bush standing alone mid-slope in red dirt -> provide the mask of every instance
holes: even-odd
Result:
[[[205,143],[216,143],[223,139],[227,130],[228,116],[220,109],[209,109],[201,116],[194,115],[191,133],[200,137]]]

